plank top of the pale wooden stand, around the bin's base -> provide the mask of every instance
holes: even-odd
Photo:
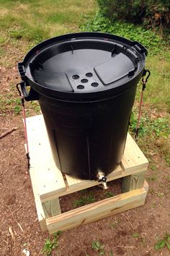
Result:
[[[36,170],[37,192],[42,202],[50,200],[56,195],[67,195],[99,184],[97,181],[81,180],[63,175],[55,166],[42,115],[27,118],[27,135],[30,148],[30,163]],[[131,172],[133,174],[147,167],[148,160],[133,138],[128,135],[122,163],[107,176],[107,181],[130,175]]]

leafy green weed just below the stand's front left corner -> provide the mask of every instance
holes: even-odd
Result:
[[[57,249],[59,236],[61,236],[61,231],[53,234],[51,238],[46,239],[45,244],[42,248],[43,255],[50,256],[53,252],[53,249]]]

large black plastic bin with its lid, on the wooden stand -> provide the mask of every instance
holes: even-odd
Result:
[[[45,40],[18,64],[24,99],[39,101],[63,173],[97,179],[120,163],[146,54],[117,35],[73,33]]]

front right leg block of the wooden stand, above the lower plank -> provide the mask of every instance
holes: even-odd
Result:
[[[132,174],[122,178],[122,192],[129,192],[133,189],[140,189],[144,186],[146,171]]]

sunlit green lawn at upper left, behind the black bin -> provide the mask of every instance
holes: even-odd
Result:
[[[3,1],[0,28],[15,39],[41,41],[78,30],[81,14],[94,12],[94,1]]]

